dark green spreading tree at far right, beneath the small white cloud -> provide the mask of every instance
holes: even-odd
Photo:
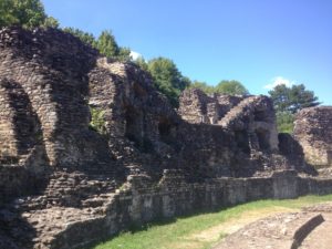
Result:
[[[320,104],[318,97],[312,91],[305,90],[303,84],[292,85],[277,85],[269,94],[274,103],[277,112],[297,113],[299,110],[317,106]]]

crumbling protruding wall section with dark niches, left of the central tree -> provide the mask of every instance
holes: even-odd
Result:
[[[147,73],[135,64],[101,58],[89,75],[90,106],[102,113],[117,163],[141,170],[175,153],[169,142],[176,139],[180,120],[166,97],[154,90]],[[154,167],[152,174],[163,168]]]

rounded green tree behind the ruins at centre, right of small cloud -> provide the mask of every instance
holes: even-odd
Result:
[[[181,91],[190,84],[190,80],[183,76],[176,64],[166,58],[151,60],[147,69],[157,90],[167,96],[174,107],[178,107],[178,97]]]

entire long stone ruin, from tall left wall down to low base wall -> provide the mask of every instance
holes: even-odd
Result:
[[[332,193],[303,142],[331,141],[302,126],[278,134],[266,96],[187,90],[176,111],[133,63],[55,29],[2,29],[0,248],[82,248],[132,224]]]

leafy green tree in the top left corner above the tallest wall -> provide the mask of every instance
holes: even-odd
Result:
[[[45,14],[40,0],[0,0],[0,27],[21,25],[24,29],[58,27],[54,18]]]

